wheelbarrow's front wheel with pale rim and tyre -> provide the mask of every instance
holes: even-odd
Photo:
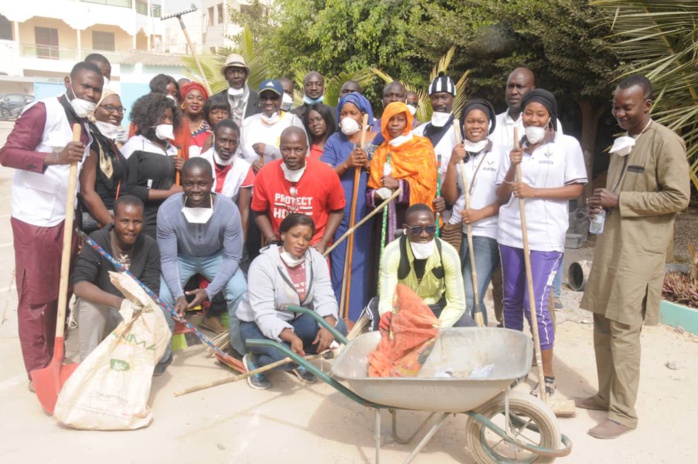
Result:
[[[507,430],[504,412],[504,394],[475,409],[503,430]],[[513,391],[509,393],[509,435],[530,446],[556,449],[560,444],[560,429],[555,414],[538,398]],[[498,464],[549,463],[554,457],[540,456],[532,451],[506,442],[487,425],[470,417],[465,426],[466,443],[478,463]]]

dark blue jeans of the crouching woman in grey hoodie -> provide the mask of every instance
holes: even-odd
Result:
[[[303,350],[306,354],[315,354],[316,345],[313,345],[315,337],[320,330],[320,324],[318,324],[315,319],[307,314],[301,314],[296,319],[289,321],[289,324],[293,326],[293,331],[298,335],[298,337],[303,340]],[[347,325],[342,319],[339,319],[337,325],[335,326],[338,332],[342,335],[347,334]],[[265,340],[267,337],[264,336],[259,327],[255,322],[241,322],[240,323],[240,334],[242,339],[247,342],[247,340]],[[291,345],[286,342],[282,342],[284,345],[290,347]],[[276,361],[280,361],[286,357],[281,351],[276,348],[266,347],[266,346],[251,346],[248,350],[250,353],[256,354],[255,364],[257,367],[266,366]],[[286,363],[275,369],[290,371],[295,368],[295,363]]]

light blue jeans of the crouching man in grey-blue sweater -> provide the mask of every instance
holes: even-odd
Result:
[[[179,268],[179,283],[184,286],[192,276],[201,274],[209,281],[218,274],[223,264],[223,254],[218,253],[212,256],[193,257],[193,256],[178,256],[177,267]],[[228,304],[228,319],[230,320],[230,344],[240,354],[245,354],[245,344],[240,338],[240,321],[238,321],[235,311],[238,304],[242,301],[242,297],[247,292],[247,281],[242,271],[238,269],[233,274],[233,277],[228,281],[224,289],[225,301]],[[162,301],[174,305],[174,297],[170,292],[164,278],[160,278],[160,298]],[[174,321],[169,313],[165,314],[167,323],[170,324],[170,329],[174,329]],[[165,353],[163,359],[167,359],[171,353],[170,349]]]

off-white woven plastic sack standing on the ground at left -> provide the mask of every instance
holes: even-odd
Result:
[[[135,430],[148,426],[155,364],[170,342],[160,307],[125,274],[109,273],[126,297],[122,322],[63,386],[54,410],[61,424],[84,430]]]

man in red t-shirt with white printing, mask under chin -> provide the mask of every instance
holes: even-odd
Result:
[[[255,222],[267,242],[277,240],[281,221],[290,213],[303,213],[315,221],[311,241],[320,253],[327,249],[344,214],[344,190],[328,164],[306,158],[308,139],[303,129],[289,127],[281,133],[281,159],[257,173],[252,195]]]

